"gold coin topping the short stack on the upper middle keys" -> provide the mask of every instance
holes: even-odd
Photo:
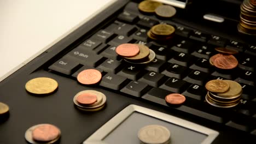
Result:
[[[153,34],[162,36],[172,35],[175,32],[175,28],[173,26],[166,24],[155,25],[150,30]]]

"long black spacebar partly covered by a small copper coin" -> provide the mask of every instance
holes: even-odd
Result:
[[[161,98],[158,98],[158,97],[152,97],[152,95],[145,94],[145,95],[143,95],[142,98],[147,99],[149,101],[153,101],[154,103],[158,103],[158,104],[161,104],[161,105],[168,106],[164,99],[161,99]],[[196,110],[194,108],[191,108],[191,107],[185,106],[185,105],[182,105],[182,106],[179,106],[179,107],[174,107],[174,109],[184,111],[184,112],[188,112],[188,113],[191,113],[192,115],[199,116],[199,117],[202,117],[202,118],[206,118],[206,119],[209,119],[209,120],[217,122],[217,123],[223,123],[223,121],[224,121],[222,117],[215,116],[215,115],[212,115],[210,113],[203,112],[203,111],[200,111],[200,110]]]

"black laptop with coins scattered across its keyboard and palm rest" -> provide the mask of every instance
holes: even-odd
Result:
[[[163,135],[168,139],[158,143],[253,143],[256,37],[238,31],[243,1],[155,1],[171,5],[176,10],[172,17],[142,11],[142,2],[104,3],[97,15],[79,21],[83,25],[68,29],[3,79],[0,143],[150,143]],[[154,33],[158,25],[175,32],[168,37]],[[115,51],[122,44],[148,47],[150,53],[146,60],[132,61]],[[215,55],[226,56],[219,47],[232,51],[228,56],[237,60],[235,68],[213,61]],[[88,84],[89,79],[80,79],[86,70],[100,80]],[[33,81],[39,77],[43,80]],[[54,89],[42,94],[38,87],[48,85],[45,78],[51,82],[46,90]],[[221,101],[222,94],[206,87],[212,80],[238,83],[234,89],[241,91],[234,101]],[[83,92],[94,101],[81,104]],[[170,94],[185,100],[170,104]],[[50,130],[40,135],[38,124],[55,125],[57,135]],[[142,134],[150,125],[153,132]],[[162,127],[169,132],[159,132]]]

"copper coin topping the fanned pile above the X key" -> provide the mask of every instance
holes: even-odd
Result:
[[[139,46],[136,44],[121,44],[115,49],[115,52],[123,57],[133,57],[139,53]]]

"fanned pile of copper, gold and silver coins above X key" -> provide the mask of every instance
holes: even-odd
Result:
[[[126,62],[132,64],[147,64],[155,58],[155,52],[141,44],[121,44],[115,49],[115,52]]]

